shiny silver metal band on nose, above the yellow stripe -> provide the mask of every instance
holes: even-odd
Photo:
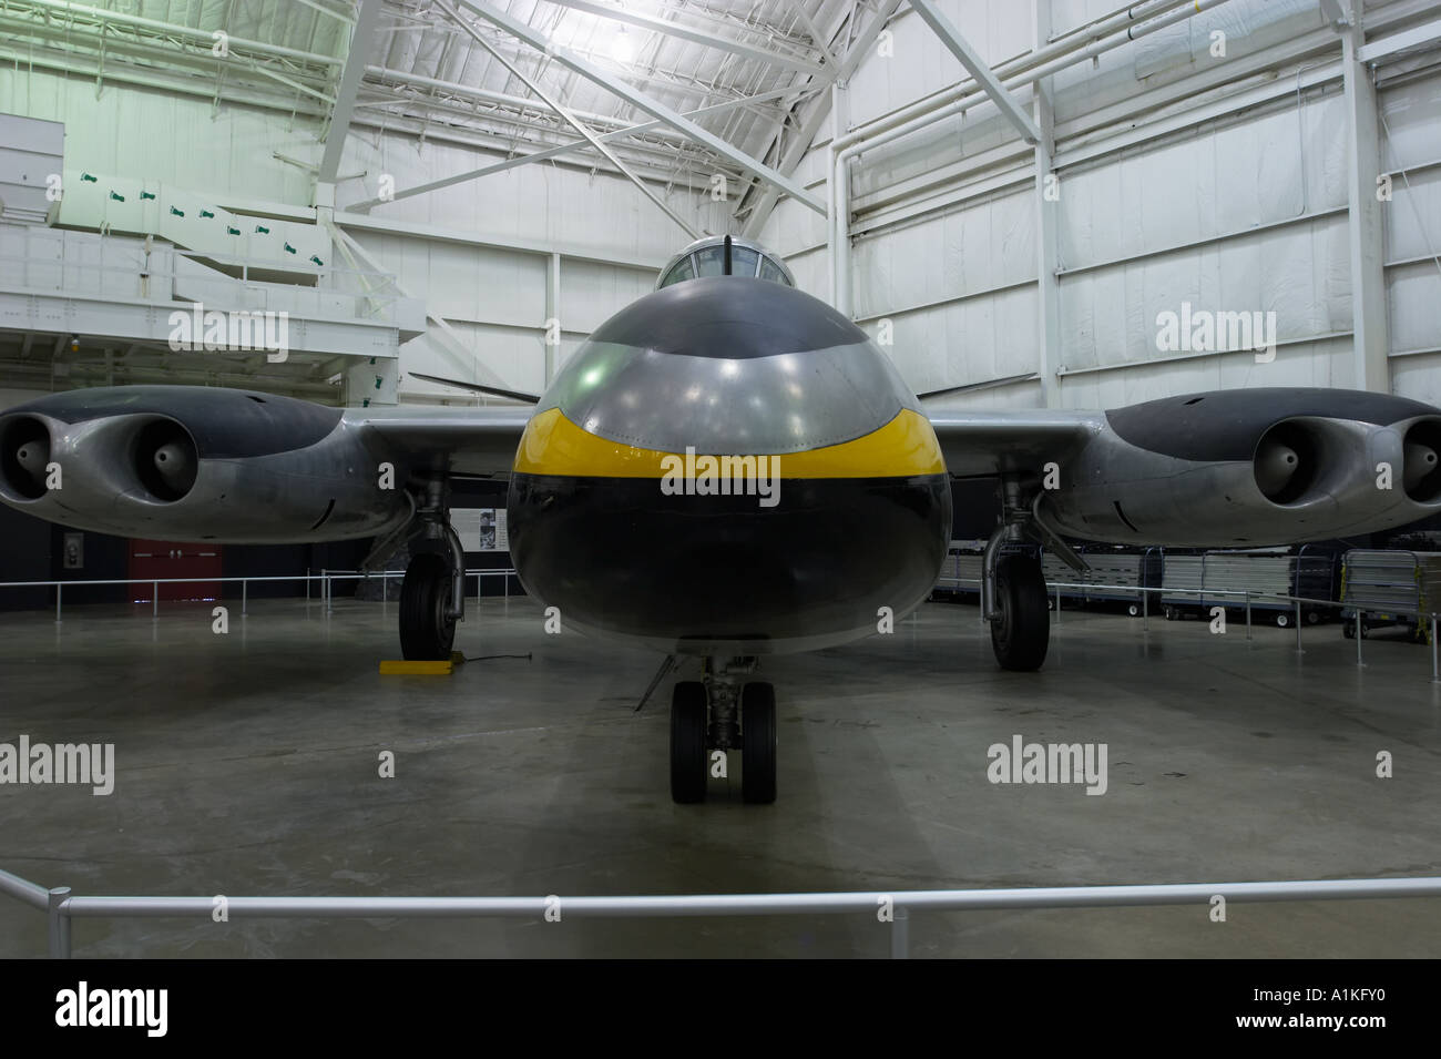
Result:
[[[550,408],[610,441],[736,455],[839,445],[904,408],[921,412],[891,359],[869,341],[736,360],[591,341],[536,412]]]

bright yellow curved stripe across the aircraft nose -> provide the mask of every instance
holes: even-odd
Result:
[[[728,454],[709,455],[723,458]],[[705,457],[692,457],[692,465]],[[597,437],[566,419],[559,408],[549,408],[526,424],[514,471],[581,478],[661,478],[673,473],[674,460],[684,461],[686,455]],[[931,421],[908,408],[855,441],[780,452],[778,463],[781,478],[909,478],[945,471]]]

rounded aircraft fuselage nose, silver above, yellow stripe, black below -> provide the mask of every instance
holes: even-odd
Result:
[[[872,634],[935,584],[950,477],[915,395],[821,301],[738,277],[601,326],[516,454],[510,550],[581,630],[677,654]]]

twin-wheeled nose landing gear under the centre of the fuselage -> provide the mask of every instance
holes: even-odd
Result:
[[[741,751],[741,797],[751,804],[775,801],[775,687],[745,680],[754,671],[755,658],[706,658],[702,680],[676,684],[670,699],[674,801],[705,801],[713,755],[733,749]]]

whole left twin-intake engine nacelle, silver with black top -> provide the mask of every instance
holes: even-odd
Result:
[[[161,540],[304,543],[408,517],[403,477],[342,411],[197,386],[56,393],[0,415],[0,497],[78,529]]]

